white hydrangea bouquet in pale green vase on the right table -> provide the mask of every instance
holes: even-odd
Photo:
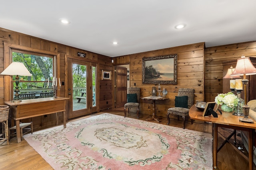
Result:
[[[232,112],[238,104],[238,98],[234,93],[228,92],[226,94],[218,94],[215,97],[215,102],[218,105],[221,105],[221,109],[226,112]]]

